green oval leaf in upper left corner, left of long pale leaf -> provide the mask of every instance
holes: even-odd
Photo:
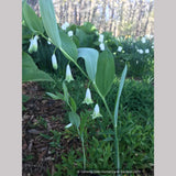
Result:
[[[44,32],[41,19],[35,14],[34,10],[26,2],[22,3],[22,14],[26,25],[32,32]]]

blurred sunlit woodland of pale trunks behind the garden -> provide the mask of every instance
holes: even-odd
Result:
[[[153,0],[53,0],[59,24],[91,22],[99,32],[119,35],[153,35]],[[38,0],[28,3],[40,15]]]

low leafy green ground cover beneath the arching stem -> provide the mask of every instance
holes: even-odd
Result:
[[[114,146],[113,146],[113,128],[103,102],[94,91],[92,99],[100,105],[102,118],[91,120],[94,105],[82,105],[86,92],[86,84],[76,79],[67,84],[70,96],[75,99],[78,107],[78,113],[87,117],[85,129],[85,146],[87,157],[87,169],[114,169]],[[47,91],[62,92],[62,82],[57,82],[55,88],[45,84]],[[117,78],[112,85],[110,94],[107,96],[107,102],[113,112],[116,95],[119,88]],[[52,92],[51,91],[51,92]],[[125,169],[153,169],[154,163],[154,87],[148,79],[134,80],[127,79],[120,100],[118,134],[120,143],[121,168]],[[68,109],[68,107],[66,107]],[[65,119],[69,123],[68,118]],[[78,138],[76,129],[70,128],[64,132],[67,138]],[[72,166],[76,165],[77,169],[82,168],[81,148],[72,151],[67,156],[63,156],[62,163],[57,167],[66,174],[74,174]]]

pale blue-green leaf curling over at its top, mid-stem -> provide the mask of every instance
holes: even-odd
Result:
[[[78,48],[78,57],[85,59],[87,74],[92,81],[96,80],[98,56],[99,53],[95,48],[89,48],[89,47]]]

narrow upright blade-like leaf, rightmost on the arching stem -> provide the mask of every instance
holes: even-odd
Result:
[[[128,66],[125,65],[124,69],[123,69],[123,73],[122,73],[122,76],[121,76],[120,86],[119,86],[118,96],[117,96],[117,101],[116,101],[116,107],[114,107],[114,127],[117,127],[117,123],[118,123],[118,111],[119,111],[120,96],[122,94],[127,72],[128,72]]]

